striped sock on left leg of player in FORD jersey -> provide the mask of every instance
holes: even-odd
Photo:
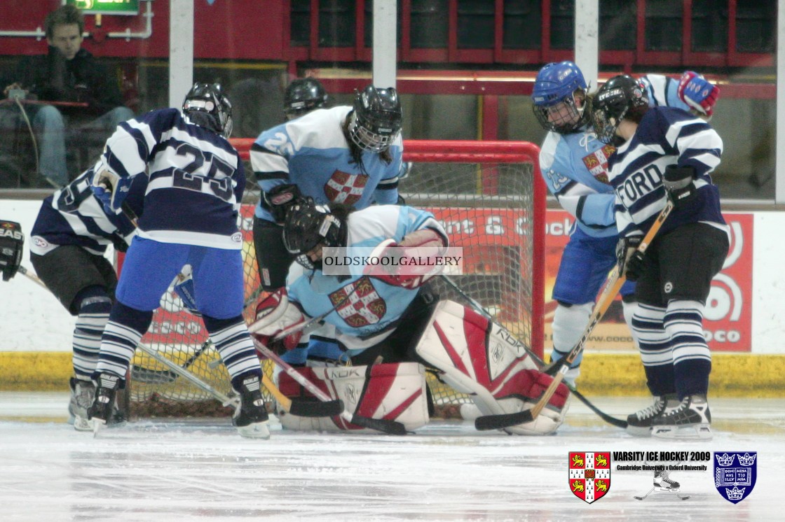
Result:
[[[648,389],[659,397],[676,392],[670,335],[665,332],[664,318],[664,308],[638,303],[632,321]]]

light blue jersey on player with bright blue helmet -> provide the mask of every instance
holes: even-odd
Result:
[[[650,106],[689,109],[679,100],[678,82],[673,78],[649,74],[641,82]],[[548,190],[575,218],[576,226],[591,237],[618,234],[615,194],[608,183],[608,158],[614,150],[597,140],[591,125],[572,134],[548,132],[540,150],[540,170]]]

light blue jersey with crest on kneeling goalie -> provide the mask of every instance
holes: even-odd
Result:
[[[385,239],[400,242],[407,234],[424,228],[433,228],[447,237],[430,212],[407,206],[374,205],[349,214],[347,245],[362,247],[367,252]],[[293,263],[287,280],[289,299],[299,303],[309,317],[325,314],[337,304],[325,322],[345,335],[364,338],[393,328],[418,289],[388,285],[360,270],[362,267],[352,270],[358,273],[341,280]]]

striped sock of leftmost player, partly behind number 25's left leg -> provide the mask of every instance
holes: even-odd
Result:
[[[98,364],[100,338],[109,321],[111,298],[104,288],[93,285],[83,288],[75,302],[79,303],[79,316],[73,339],[74,374],[77,379],[89,380]]]

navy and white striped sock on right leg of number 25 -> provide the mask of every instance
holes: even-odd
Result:
[[[254,342],[250,339],[248,327],[243,316],[232,317],[230,319],[215,319],[214,317],[203,316],[204,326],[210,332],[215,349],[221,354],[227,372],[232,378],[232,386],[239,390],[239,381],[235,378],[248,372],[257,374],[261,377],[261,367],[257,356]]]

